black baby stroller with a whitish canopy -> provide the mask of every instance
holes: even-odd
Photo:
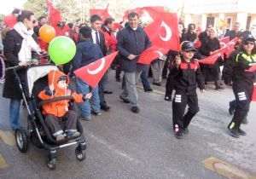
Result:
[[[49,71],[55,69],[56,66],[54,65],[15,66],[10,69],[15,72],[15,78],[20,84],[20,90],[28,112],[26,130],[22,127],[15,130],[17,147],[21,153],[26,153],[29,147],[29,142],[32,141],[37,147],[48,150],[46,164],[50,170],[55,170],[55,153],[59,148],[78,144],[78,147],[75,149],[77,159],[82,161],[86,157],[86,142],[83,135],[83,127],[79,120],[77,122],[77,130],[79,131],[80,136],[68,137],[61,141],[55,141],[55,138],[51,135],[48,127],[44,123],[44,116],[41,113],[43,104],[52,101],[73,100],[73,96],[71,95],[56,97],[48,101],[40,101],[38,99],[38,93],[48,85],[47,75]],[[26,73],[26,78],[24,80],[21,80],[19,77],[20,70],[23,70]]]

